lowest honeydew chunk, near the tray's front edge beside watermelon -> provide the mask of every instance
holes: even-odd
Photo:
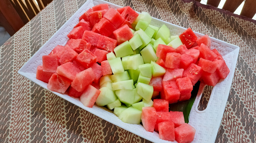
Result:
[[[142,113],[142,111],[140,111],[136,108],[133,108],[133,107],[129,107],[129,108],[125,109],[119,115],[118,118],[125,123],[140,124],[141,113]]]

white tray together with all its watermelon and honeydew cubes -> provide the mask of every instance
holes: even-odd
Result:
[[[240,48],[192,30],[88,0],[18,73],[149,141],[214,142]],[[187,124],[169,104],[189,100],[198,81]]]

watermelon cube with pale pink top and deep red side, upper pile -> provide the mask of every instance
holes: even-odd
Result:
[[[123,23],[124,18],[121,14],[114,8],[109,8],[108,11],[103,16],[107,20],[109,20],[112,24],[114,24],[117,28]]]

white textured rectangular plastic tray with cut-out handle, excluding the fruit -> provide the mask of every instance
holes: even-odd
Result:
[[[25,76],[29,80],[38,84],[41,87],[47,89],[47,84],[36,79],[36,68],[38,65],[42,64],[42,56],[48,55],[55,46],[65,45],[68,41],[68,33],[73,29],[73,27],[79,22],[79,17],[86,12],[89,8],[101,4],[107,3],[112,8],[120,8],[120,6],[111,4],[102,0],[88,0],[84,5],[79,8],[75,14],[65,23],[63,26],[22,66],[18,71],[19,74]],[[165,24],[169,29],[172,35],[180,35],[186,28],[164,22],[162,20],[152,18],[152,25],[162,26]],[[195,32],[197,37],[202,37],[203,34]],[[211,38],[211,49],[216,48],[219,53],[223,56],[230,73],[226,79],[219,82],[215,87],[213,87],[209,103],[207,108],[203,111],[198,111],[197,107],[203,93],[203,86],[199,89],[195,103],[192,106],[189,124],[196,129],[196,134],[193,142],[196,143],[210,143],[215,142],[220,123],[224,114],[224,109],[226,106],[227,98],[229,95],[230,87],[232,84],[232,79],[235,72],[236,62],[239,54],[239,47],[227,42]],[[142,125],[127,124],[122,122],[116,115],[113,114],[113,111],[108,110],[104,107],[98,107],[96,105],[93,108],[85,107],[77,98],[70,97],[66,94],[61,94],[53,92],[59,97],[83,108],[84,110],[108,121],[111,122],[129,132],[132,132],[136,135],[139,135],[152,142],[163,142],[169,143],[169,141],[161,140],[158,133],[156,132],[147,132]],[[176,142],[176,141],[174,141]]]

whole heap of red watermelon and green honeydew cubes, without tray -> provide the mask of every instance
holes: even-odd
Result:
[[[100,4],[87,10],[67,35],[42,57],[36,78],[49,90],[79,98],[86,107],[106,106],[125,123],[142,124],[164,140],[191,142],[195,129],[169,104],[189,100],[193,86],[215,86],[229,69],[208,35],[188,28],[172,35],[151,25],[147,12]],[[161,98],[154,99],[152,98]]]

